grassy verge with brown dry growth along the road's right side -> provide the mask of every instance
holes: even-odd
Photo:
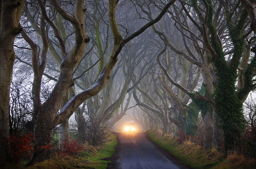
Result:
[[[160,130],[147,131],[150,139],[158,146],[167,150],[181,160],[182,163],[192,168],[212,168],[212,169],[253,169],[256,166],[255,158],[244,156],[239,153],[225,153],[217,151],[215,148],[205,149],[200,145],[195,145],[191,140],[184,139],[180,142],[180,137],[174,138],[172,135],[162,135]]]

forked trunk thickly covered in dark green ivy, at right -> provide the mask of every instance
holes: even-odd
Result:
[[[230,13],[228,16],[227,26],[230,38],[234,44],[232,61],[230,66],[228,66],[223,54],[223,49],[217,40],[217,31],[213,26],[213,4],[210,0],[207,0],[207,2],[209,4],[207,27],[210,30],[210,43],[217,53],[217,56],[214,56],[212,60],[217,76],[214,102],[223,130],[224,143],[232,145],[235,141],[239,142],[245,122],[242,113],[242,102],[238,98],[235,84],[237,78],[236,69],[240,63],[245,44],[242,30],[247,18],[247,13],[243,11],[235,26],[231,24],[233,13]]]

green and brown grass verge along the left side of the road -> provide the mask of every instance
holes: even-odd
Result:
[[[85,145],[85,149],[76,155],[54,158],[37,163],[29,169],[106,169],[111,161],[104,160],[111,157],[115,152],[117,138],[111,133],[107,141],[102,146]]]

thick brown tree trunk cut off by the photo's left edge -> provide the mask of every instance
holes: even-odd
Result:
[[[15,53],[13,43],[22,29],[18,27],[24,0],[1,0],[0,19],[0,158],[10,161],[9,139],[9,91],[13,74]]]

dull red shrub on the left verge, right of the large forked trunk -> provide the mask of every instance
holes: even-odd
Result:
[[[76,139],[70,139],[67,142],[63,142],[60,148],[60,156],[73,155],[83,150],[84,147],[81,146]]]

